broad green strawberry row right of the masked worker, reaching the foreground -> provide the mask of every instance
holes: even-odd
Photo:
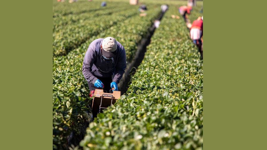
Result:
[[[175,6],[125,95],[89,124],[87,149],[202,149],[203,63]]]

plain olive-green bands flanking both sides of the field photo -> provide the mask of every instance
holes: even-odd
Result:
[[[262,149],[266,2],[203,5],[203,148]],[[52,1],[1,7],[1,149],[52,149]]]

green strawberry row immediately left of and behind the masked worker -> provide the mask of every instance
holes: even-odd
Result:
[[[81,68],[85,52],[90,42],[96,38],[114,36],[125,47],[129,55],[136,51],[136,43],[148,32],[152,21],[160,9],[151,9],[146,17],[134,16],[123,21],[98,36],[92,37],[68,55],[53,57],[53,146],[66,143],[72,130],[80,134],[82,125],[90,122],[91,110],[88,105],[89,89]],[[74,111],[75,110],[75,111]]]

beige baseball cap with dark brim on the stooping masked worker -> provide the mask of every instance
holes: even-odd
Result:
[[[102,41],[102,51],[103,56],[105,57],[115,57],[117,50],[117,41],[115,38],[107,37]]]

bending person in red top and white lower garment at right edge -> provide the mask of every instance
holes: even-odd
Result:
[[[201,50],[201,37],[203,36],[203,16],[198,17],[197,20],[195,20],[190,28],[190,38],[193,40],[193,43],[195,43],[198,46],[198,50],[201,53],[203,51]]]

